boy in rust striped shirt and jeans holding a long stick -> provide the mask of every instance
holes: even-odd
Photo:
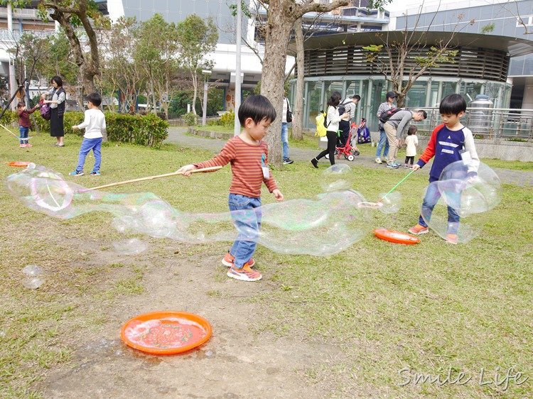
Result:
[[[242,132],[230,138],[220,153],[205,162],[185,165],[178,170],[185,176],[190,170],[224,166],[231,163],[232,182],[228,203],[233,223],[238,234],[222,264],[230,266],[228,277],[242,281],[261,280],[262,275],[252,270],[259,228],[261,227],[261,185],[264,182],[277,201],[283,201],[283,194],[269,170],[269,149],[262,139],[270,124],[276,119],[276,110],[269,99],[252,95],[239,106],[239,122]]]

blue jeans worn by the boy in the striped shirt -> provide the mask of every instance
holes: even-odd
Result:
[[[235,256],[235,268],[240,269],[255,252],[259,229],[261,228],[261,198],[230,194],[228,197],[233,224],[237,229],[237,238],[233,242],[230,254]]]

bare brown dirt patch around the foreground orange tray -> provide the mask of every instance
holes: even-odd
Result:
[[[309,383],[306,370],[342,356],[340,349],[298,337],[252,332],[266,319],[268,309],[264,302],[249,298],[268,293],[274,284],[266,273],[259,283],[227,278],[227,268],[220,264],[222,255],[213,256],[218,248],[223,253],[224,245],[205,247],[206,256],[198,256],[202,249],[196,246],[163,240],[151,240],[149,249],[138,256],[121,256],[112,245],[101,247],[104,243],[75,240],[75,245],[79,253],[89,254],[84,261],[73,261],[78,267],[90,270],[87,262],[93,268],[102,267],[92,279],[94,298],[107,290],[112,305],[92,299],[82,306],[87,313],[101,312],[105,322],[65,337],[73,339],[73,360],[47,373],[39,387],[45,397],[316,398],[325,394],[323,383]],[[117,281],[135,274],[132,268],[142,270],[139,284],[144,292],[114,291]],[[212,337],[201,348],[175,356],[149,356],[122,344],[122,324],[155,310],[201,315],[212,325]]]

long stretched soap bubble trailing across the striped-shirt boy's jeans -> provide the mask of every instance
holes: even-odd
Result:
[[[181,212],[151,192],[112,194],[63,180],[43,166],[26,168],[8,177],[8,188],[26,206],[53,217],[70,219],[87,212],[109,212],[122,234],[145,234],[188,243],[233,241],[237,234],[280,253],[328,256],[362,239],[372,226],[370,212],[396,212],[401,197],[387,195],[367,202],[349,185],[350,167],[335,164],[323,173],[325,192],[316,199],[264,204],[242,212],[193,214]],[[259,218],[259,234],[237,229],[234,219]],[[119,253],[136,254],[146,244],[135,239],[114,243]]]

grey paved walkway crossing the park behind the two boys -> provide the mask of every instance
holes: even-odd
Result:
[[[200,136],[188,136],[185,134],[187,131],[186,128],[179,128],[171,126],[168,128],[168,138],[166,143],[175,143],[187,148],[203,148],[204,150],[210,150],[213,153],[220,151],[222,146],[224,146],[225,141],[219,140],[217,138],[203,138]],[[308,150],[301,148],[290,148],[291,159],[296,162],[306,162],[309,163],[309,160],[313,158],[319,151],[317,150]],[[386,168],[384,164],[378,165],[374,162],[375,157],[368,155],[358,155],[355,157],[355,161],[349,162],[344,159],[338,160],[339,163],[346,163],[348,165],[357,165],[363,166],[365,168],[377,168],[383,169]],[[321,163],[328,163],[328,160],[322,159]],[[309,164],[311,167],[311,163]],[[524,172],[522,170],[510,170],[510,169],[501,169],[494,168],[497,175],[500,177],[502,183],[519,185],[522,187],[533,187],[533,172]],[[397,170],[392,170],[397,173],[405,173],[405,169],[400,167]],[[420,173],[429,174],[429,168],[422,168]]]

